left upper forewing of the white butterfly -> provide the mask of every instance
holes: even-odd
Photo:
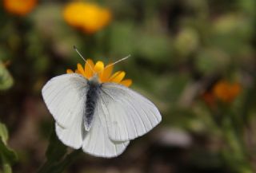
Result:
[[[42,97],[50,113],[62,128],[70,127],[74,117],[86,108],[86,78],[77,73],[52,78],[42,88]]]

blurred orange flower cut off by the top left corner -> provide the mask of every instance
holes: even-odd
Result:
[[[37,2],[37,0],[3,0],[3,6],[11,14],[24,16],[34,9]]]

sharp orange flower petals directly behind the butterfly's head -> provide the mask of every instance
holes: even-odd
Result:
[[[94,61],[90,59],[87,59],[86,61],[87,63],[84,67],[78,63],[78,69],[75,71],[72,69],[67,69],[66,73],[78,73],[88,80],[97,74],[101,83],[114,82],[117,84],[125,85],[126,87],[129,87],[132,84],[130,79],[123,80],[126,76],[124,71],[118,71],[111,75],[114,65],[109,64],[104,68],[104,63],[102,61],[97,61],[95,65]]]

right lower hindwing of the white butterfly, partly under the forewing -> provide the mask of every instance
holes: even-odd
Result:
[[[98,100],[94,111],[94,120],[89,132],[86,132],[82,150],[99,157],[115,157],[126,149],[129,141],[113,141],[107,133],[106,119],[102,110],[101,100]]]

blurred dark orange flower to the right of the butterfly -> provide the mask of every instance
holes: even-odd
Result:
[[[222,102],[230,103],[241,92],[241,85],[238,83],[230,84],[227,81],[219,81],[213,88],[213,94]]]

